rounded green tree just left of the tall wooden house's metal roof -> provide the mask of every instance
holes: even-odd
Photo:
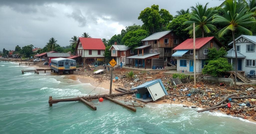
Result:
[[[122,41],[124,42],[124,45],[135,48],[141,46],[141,40],[145,39],[147,36],[148,32],[146,30],[138,29],[126,33]]]

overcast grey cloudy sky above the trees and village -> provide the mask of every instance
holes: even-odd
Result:
[[[110,39],[125,26],[142,25],[137,19],[140,12],[153,4],[174,16],[177,10],[195,6],[197,2],[209,2],[209,7],[221,3],[218,0],[1,0],[0,51],[29,44],[43,48],[51,37],[61,46],[67,46],[71,37],[83,32],[92,38]]]

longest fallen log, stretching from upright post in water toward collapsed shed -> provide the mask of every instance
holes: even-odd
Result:
[[[123,96],[126,94],[134,94],[137,91],[131,91],[131,92],[125,92],[125,93],[116,93],[116,94],[111,94],[109,96],[114,97],[114,96]],[[85,99],[85,100],[91,100],[91,99],[98,99],[99,97],[105,98],[107,94],[102,94],[102,95],[90,95],[90,96],[81,96],[81,97],[76,97],[76,98],[67,98],[67,99],[49,99],[48,103],[49,104],[55,104],[58,102],[69,102],[69,101],[80,101],[80,98]]]

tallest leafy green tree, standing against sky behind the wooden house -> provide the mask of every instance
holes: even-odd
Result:
[[[138,19],[143,22],[143,28],[150,34],[160,32],[173,19],[173,16],[166,9],[159,10],[158,5],[152,5],[141,11]]]

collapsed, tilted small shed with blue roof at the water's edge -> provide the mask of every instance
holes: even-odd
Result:
[[[143,102],[156,101],[157,99],[159,99],[165,95],[168,95],[161,79],[156,79],[156,80],[145,82],[137,87],[132,88],[131,91],[132,90],[137,90],[138,93],[141,95],[147,95],[147,99],[145,99],[145,98],[142,99],[140,97],[134,98],[136,100],[140,100]]]

